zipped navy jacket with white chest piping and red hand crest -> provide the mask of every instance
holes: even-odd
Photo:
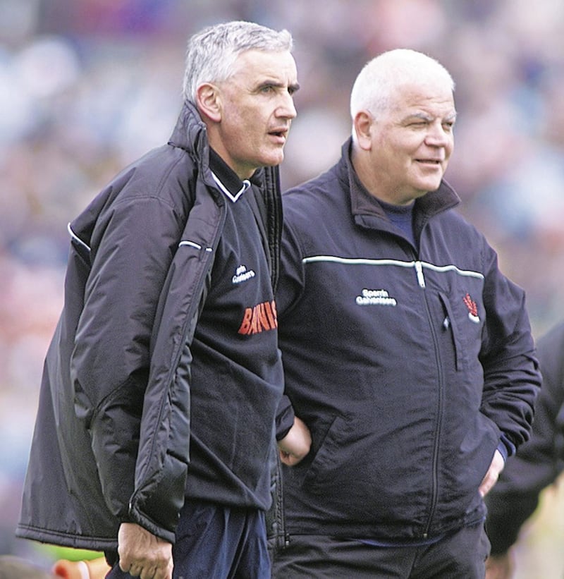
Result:
[[[502,434],[528,437],[540,377],[525,295],[447,183],[415,202],[415,248],[349,146],[283,195],[278,435],[294,414],[312,432],[283,468],[286,530],[427,540],[483,519]]]

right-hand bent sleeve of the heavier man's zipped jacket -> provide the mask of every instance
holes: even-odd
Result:
[[[499,271],[493,249],[487,247],[485,255],[481,410],[497,425],[511,455],[529,438],[541,375],[525,292]]]

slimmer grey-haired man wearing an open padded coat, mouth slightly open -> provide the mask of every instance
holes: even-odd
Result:
[[[194,35],[168,144],[69,224],[17,532],[103,550],[109,578],[270,576],[292,44],[246,22]]]

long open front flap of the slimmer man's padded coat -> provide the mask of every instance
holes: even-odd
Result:
[[[175,540],[188,473],[192,339],[225,221],[224,206],[207,187],[197,183],[196,190],[157,306],[128,511],[168,542]]]

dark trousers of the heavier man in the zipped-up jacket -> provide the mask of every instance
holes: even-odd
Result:
[[[274,555],[275,579],[484,579],[490,544],[472,525],[421,547],[374,547],[357,540],[292,535]]]

